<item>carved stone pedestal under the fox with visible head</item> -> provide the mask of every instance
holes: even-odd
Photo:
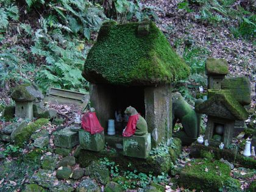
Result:
[[[147,158],[151,151],[151,134],[132,135],[123,138],[124,155],[129,157]]]

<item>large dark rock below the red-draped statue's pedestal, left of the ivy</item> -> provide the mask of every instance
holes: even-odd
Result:
[[[108,168],[98,162],[92,162],[91,165],[85,168],[85,176],[90,176],[102,185],[107,184],[110,180]]]

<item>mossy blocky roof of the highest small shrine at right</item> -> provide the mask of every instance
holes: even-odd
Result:
[[[207,75],[226,75],[229,73],[229,68],[225,59],[208,58],[205,63],[205,70]]]

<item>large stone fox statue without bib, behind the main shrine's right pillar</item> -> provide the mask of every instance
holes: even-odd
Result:
[[[202,102],[204,102],[202,99],[197,99],[195,105]],[[172,94],[172,129],[178,119],[183,129],[177,132],[177,135],[190,138],[199,137],[201,115],[194,111],[180,93],[176,92]]]

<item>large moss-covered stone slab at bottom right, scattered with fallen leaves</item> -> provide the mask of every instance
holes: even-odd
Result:
[[[230,167],[225,163],[196,160],[183,168],[179,183],[190,190],[218,191],[226,180],[232,179],[229,174]]]

